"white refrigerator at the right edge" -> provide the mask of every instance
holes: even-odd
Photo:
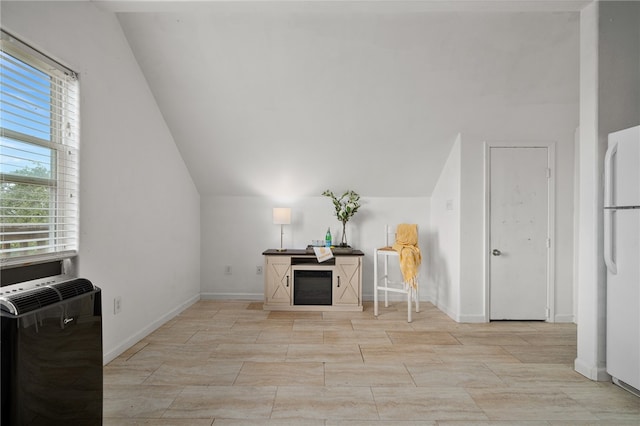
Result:
[[[640,126],[609,134],[604,165],[607,372],[640,389]]]

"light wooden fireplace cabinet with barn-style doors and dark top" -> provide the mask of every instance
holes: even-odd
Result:
[[[323,263],[306,250],[263,255],[265,310],[362,311],[361,251],[334,254]]]

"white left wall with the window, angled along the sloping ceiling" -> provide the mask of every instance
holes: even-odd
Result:
[[[2,27],[80,74],[78,271],[102,289],[108,362],[199,298],[199,195],[113,14],[3,2]]]

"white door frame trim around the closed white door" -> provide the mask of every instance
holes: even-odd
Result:
[[[547,180],[547,322],[555,322],[555,217],[556,217],[556,143],[555,142],[484,142],[484,319],[491,321],[491,148],[546,148],[549,179]]]

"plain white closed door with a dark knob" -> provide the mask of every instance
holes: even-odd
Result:
[[[546,320],[549,244],[547,147],[489,150],[491,320]]]

